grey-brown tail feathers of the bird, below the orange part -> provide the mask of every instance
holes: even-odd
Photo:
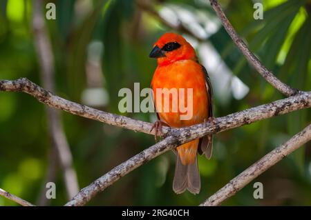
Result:
[[[175,177],[173,180],[173,190],[176,194],[189,192],[198,194],[200,192],[201,182],[198,172],[198,159],[196,157],[194,163],[183,165],[180,156],[177,154]]]

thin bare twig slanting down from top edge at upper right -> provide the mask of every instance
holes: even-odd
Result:
[[[286,85],[278,78],[276,78],[270,70],[268,70],[263,63],[249,50],[246,46],[245,42],[241,37],[238,36],[236,30],[232,27],[232,24],[227,19],[225,13],[221,9],[217,0],[209,0],[211,2],[211,7],[214,8],[217,16],[219,17],[220,21],[223,23],[225,30],[227,30],[228,34],[236,44],[236,46],[241,50],[244,54],[247,61],[261,74],[265,80],[270,83],[274,88],[285,94],[286,96],[291,96],[297,94],[298,90],[291,88],[290,86]]]

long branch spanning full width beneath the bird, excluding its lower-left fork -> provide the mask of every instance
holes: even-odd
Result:
[[[73,101],[68,101],[62,97],[37,86],[32,81],[21,78],[17,80],[0,80],[0,91],[7,92],[25,92],[35,97],[41,103],[47,106],[64,110],[71,114],[77,114],[87,119],[93,119],[103,123],[108,123],[112,126],[118,126],[135,132],[144,132],[147,134],[154,134],[150,132],[152,123],[131,119],[118,114],[112,114],[101,110],[96,110],[88,106],[84,106]],[[167,128],[163,127],[164,137],[181,136],[180,141],[191,141],[206,134],[212,134],[224,130],[229,130],[245,124],[253,123],[263,119],[268,119],[281,114],[286,114],[303,108],[310,108],[311,106],[311,92],[299,92],[298,94],[280,99],[272,103],[249,108],[241,112],[228,114],[225,117],[218,117],[214,123],[200,123],[194,126],[185,128]],[[190,137],[191,136],[191,137]],[[194,136],[194,138],[192,138]]]

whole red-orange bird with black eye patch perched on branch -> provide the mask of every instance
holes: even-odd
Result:
[[[153,45],[149,57],[158,59],[158,67],[151,81],[158,116],[158,121],[153,125],[153,128],[156,128],[156,136],[158,132],[161,132],[162,125],[180,128],[213,119],[213,92],[209,76],[204,66],[198,62],[196,52],[190,43],[178,34],[164,34]],[[191,113],[189,119],[182,119],[185,109],[181,109],[177,103],[171,103],[174,101],[173,92],[159,93],[157,97],[157,89],[171,90],[174,88],[185,90],[185,93],[176,93],[179,102],[192,104],[192,106],[187,106],[191,111],[188,112]],[[190,97],[187,94],[188,89],[192,89]],[[161,98],[160,95],[162,100],[158,100]],[[167,108],[169,111],[164,110],[165,99],[170,102],[169,108]],[[177,110],[176,106],[178,106]],[[186,189],[193,194],[200,192],[197,152],[205,154],[207,159],[210,159],[212,146],[212,136],[207,135],[176,148],[174,192],[180,194]]]

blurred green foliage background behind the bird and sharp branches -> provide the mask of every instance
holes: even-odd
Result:
[[[36,2],[0,0],[0,79],[27,77],[65,99],[121,114],[120,88],[133,89],[135,82],[148,88],[157,65],[148,57],[153,43],[164,32],[178,32],[196,48],[209,72],[216,117],[283,98],[249,66],[207,0],[50,0],[39,1],[37,9]],[[45,19],[48,2],[55,3],[55,20]],[[311,90],[310,0],[219,2],[238,34],[276,77]],[[253,17],[256,2],[263,5],[263,19]],[[39,42],[50,48],[48,70],[40,54],[45,44]],[[155,120],[152,113],[124,115]],[[88,206],[197,206],[307,126],[310,115],[310,110],[300,110],[216,134],[212,159],[199,158],[202,189],[196,196],[174,194],[175,158],[167,152],[127,174]],[[47,112],[28,94],[0,92],[0,188],[32,203],[61,206],[78,186],[87,186],[153,143],[148,134]],[[55,146],[61,146],[65,158],[57,157]],[[56,183],[56,199],[45,198],[48,181]],[[256,181],[263,183],[263,199],[253,197]],[[310,143],[223,204],[310,206]],[[17,204],[0,197],[0,206]]]

